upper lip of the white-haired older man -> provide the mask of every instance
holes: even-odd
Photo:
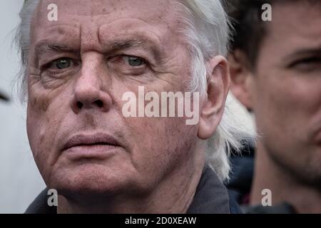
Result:
[[[68,138],[66,143],[63,145],[63,150],[68,150],[72,147],[86,146],[86,145],[113,145],[121,146],[121,144],[113,138],[113,136],[106,133],[95,133],[95,134],[78,134],[71,138]]]

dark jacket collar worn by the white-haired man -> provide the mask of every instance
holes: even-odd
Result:
[[[47,204],[47,199],[50,197],[47,192],[48,189],[36,197],[26,209],[26,214],[56,214],[56,207],[49,207]],[[210,167],[205,167],[187,213],[237,214],[241,213],[241,210],[216,173]]]

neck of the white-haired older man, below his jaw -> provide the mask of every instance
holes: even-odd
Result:
[[[114,195],[96,201],[68,199],[58,196],[58,214],[66,213],[153,213],[182,214],[187,212],[193,201],[196,187],[203,172],[203,158],[191,164],[177,165],[148,194]]]

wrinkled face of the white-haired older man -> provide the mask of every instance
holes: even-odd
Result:
[[[192,163],[196,125],[122,114],[123,93],[138,86],[187,88],[173,1],[57,0],[58,21],[47,19],[51,3],[34,17],[28,78],[29,140],[46,184],[67,195],[133,194]]]

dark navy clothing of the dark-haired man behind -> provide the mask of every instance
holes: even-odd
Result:
[[[228,182],[230,196],[235,199],[246,214],[293,214],[295,209],[286,202],[272,207],[263,205],[249,206],[250,191],[254,173],[255,149],[253,145],[245,147],[241,155],[231,157],[232,174]]]

